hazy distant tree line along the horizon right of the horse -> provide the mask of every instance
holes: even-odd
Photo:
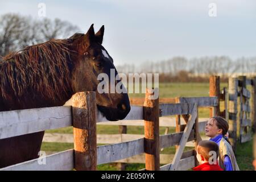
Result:
[[[256,56],[230,59],[228,56],[204,56],[187,59],[172,57],[162,61],[148,61],[140,65],[123,64],[117,67],[122,73],[159,73],[159,81],[209,81],[210,75],[224,78],[247,74],[256,76]]]

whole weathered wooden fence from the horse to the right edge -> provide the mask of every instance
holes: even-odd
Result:
[[[245,78],[243,78],[245,80]],[[216,83],[216,82],[215,82]],[[229,79],[229,108],[225,107],[225,115],[231,122],[230,137],[236,141],[237,97],[242,95],[241,112],[248,109],[249,91],[243,85],[244,81],[236,78]],[[246,84],[253,85],[253,111],[251,114],[255,126],[255,79],[246,79]],[[238,87],[242,89],[238,92]],[[218,87],[220,88],[220,87]],[[218,90],[215,89],[215,90]],[[158,90],[154,90],[158,92]],[[218,114],[219,96],[176,98],[176,104],[159,104],[159,99],[149,100],[151,90],[147,90],[143,106],[131,106],[131,111],[124,120],[144,120],[144,136],[126,142],[97,146],[96,122],[108,122],[96,109],[96,94],[94,92],[76,93],[72,97],[72,106],[46,107],[39,109],[14,110],[0,112],[0,139],[35,133],[49,129],[73,126],[74,149],[44,156],[46,163],[40,163],[42,158],[15,164],[0,170],[95,170],[98,164],[123,160],[145,153],[146,170],[187,170],[196,165],[195,150],[184,151],[189,141],[200,139],[200,122],[198,107],[213,107],[212,114]],[[227,93],[225,93],[226,96]],[[227,97],[225,97],[227,98]],[[225,99],[226,100],[226,99]],[[228,106],[228,104],[225,104]],[[229,110],[228,114],[226,114]],[[178,133],[159,135],[159,117],[174,115]],[[185,121],[181,125],[180,115]],[[242,127],[249,119],[241,113]],[[124,126],[123,121],[119,121]],[[118,123],[118,122],[113,122]],[[201,122],[203,123],[203,122]],[[248,123],[248,122],[246,122]],[[127,125],[127,124],[126,124]],[[203,124],[205,125],[205,123]],[[202,125],[202,126],[203,126]],[[248,129],[246,130],[248,131]],[[246,134],[242,134],[241,138]],[[245,141],[241,139],[241,142]],[[177,146],[172,163],[160,167],[159,148]]]

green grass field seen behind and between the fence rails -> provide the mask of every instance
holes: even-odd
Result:
[[[227,87],[228,84],[221,84],[221,88]],[[207,97],[209,96],[208,83],[162,83],[159,84],[160,98],[163,97]],[[144,94],[129,94],[129,97],[144,97]],[[224,105],[221,102],[221,110]],[[199,117],[209,117],[209,109],[200,108]],[[160,134],[164,134],[165,127],[160,127]],[[72,127],[64,129],[48,130],[48,133],[73,133]],[[169,133],[174,133],[175,128],[170,128]],[[128,134],[144,134],[143,126],[127,126]],[[118,134],[118,126],[97,125],[97,134]],[[238,144],[237,162],[241,170],[253,170],[251,162],[253,161],[252,141]],[[72,143],[46,143],[42,144],[43,151],[63,151],[73,148]],[[191,147],[186,147],[188,150]],[[161,154],[175,154],[175,147],[164,148]],[[117,165],[101,164],[97,166],[98,170],[118,170]],[[127,164],[126,170],[138,170],[144,168],[144,164]]]

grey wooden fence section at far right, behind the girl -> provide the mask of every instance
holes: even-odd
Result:
[[[234,151],[237,141],[247,142],[251,140],[251,131],[255,132],[255,79],[245,76],[229,78],[229,135]],[[251,92],[247,85],[251,85]]]

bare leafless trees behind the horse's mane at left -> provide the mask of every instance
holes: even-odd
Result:
[[[0,56],[50,39],[68,38],[77,31],[77,26],[60,19],[5,14],[0,16]]]

